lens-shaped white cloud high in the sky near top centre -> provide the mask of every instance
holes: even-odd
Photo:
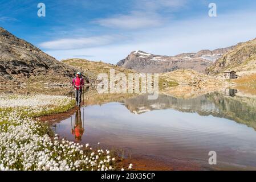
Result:
[[[111,18],[101,18],[94,21],[104,27],[137,29],[155,27],[162,24],[162,19],[155,13],[139,13],[133,11],[129,15],[115,15]]]

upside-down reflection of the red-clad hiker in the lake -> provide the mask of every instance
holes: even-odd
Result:
[[[72,121],[71,121],[72,122]],[[71,123],[72,125],[72,123]],[[80,142],[84,133],[84,127],[81,119],[81,110],[76,110],[75,123],[74,127],[72,127],[72,135],[75,136],[75,140]]]

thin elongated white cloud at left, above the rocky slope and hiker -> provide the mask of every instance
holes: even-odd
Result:
[[[87,38],[70,38],[70,39],[57,39],[48,42],[40,43],[39,46],[44,49],[80,49],[95,46],[103,46],[113,41],[120,36],[91,36]]]

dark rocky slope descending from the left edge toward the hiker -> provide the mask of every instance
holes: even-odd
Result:
[[[76,71],[0,27],[1,84],[67,82]]]

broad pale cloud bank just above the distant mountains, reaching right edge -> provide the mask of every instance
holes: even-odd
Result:
[[[233,46],[256,37],[256,13],[235,12],[219,15],[217,18],[182,20],[168,23],[161,28],[148,28],[129,35],[129,41],[107,46],[71,49],[68,51],[48,51],[57,59],[67,59],[74,55],[92,55],[93,60],[117,63],[131,51],[140,49],[157,55],[176,55],[182,52],[197,52],[201,49],[216,49]]]

